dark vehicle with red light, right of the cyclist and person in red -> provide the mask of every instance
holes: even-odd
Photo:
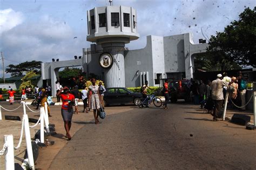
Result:
[[[176,103],[178,99],[190,101],[190,89],[188,89],[187,83],[188,80],[176,80],[169,83],[169,96],[172,103]]]

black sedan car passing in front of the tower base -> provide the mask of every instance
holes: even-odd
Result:
[[[104,106],[117,104],[135,104],[142,98],[141,93],[132,92],[125,87],[106,88],[104,93]]]

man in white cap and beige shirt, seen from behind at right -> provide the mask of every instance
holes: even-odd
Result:
[[[211,84],[211,94],[212,94],[212,100],[215,104],[215,108],[213,110],[213,121],[217,121],[217,118],[220,118],[221,115],[219,115],[220,108],[223,105],[223,87],[228,86],[229,84],[232,84],[234,81],[231,81],[230,83],[227,83],[227,81],[223,80],[223,76],[221,74],[217,75],[217,79],[212,81]]]

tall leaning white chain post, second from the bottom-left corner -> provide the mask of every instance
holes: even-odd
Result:
[[[32,152],[32,144],[31,144],[31,137],[30,137],[28,114],[24,114],[23,117],[24,117],[25,137],[26,137],[26,151],[28,152],[29,166],[33,170],[35,170],[35,164],[34,164],[33,152]]]

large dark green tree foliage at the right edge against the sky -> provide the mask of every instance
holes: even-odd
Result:
[[[208,52],[226,60],[232,60],[242,66],[256,67],[256,6],[246,8],[239,15],[238,21],[231,22],[224,32],[217,32],[209,40]],[[227,70],[227,69],[225,69]]]

